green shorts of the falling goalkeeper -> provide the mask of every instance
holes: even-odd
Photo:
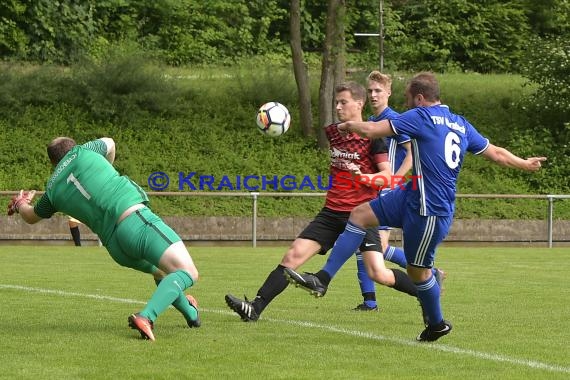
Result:
[[[159,216],[144,207],[119,223],[106,247],[119,265],[154,273],[164,251],[180,240]]]

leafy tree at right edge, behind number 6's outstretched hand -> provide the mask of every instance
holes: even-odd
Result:
[[[520,71],[534,90],[521,103],[530,123],[515,127],[511,145],[521,152],[538,146],[548,154],[549,170],[529,179],[536,191],[565,192],[570,186],[570,1],[529,3],[535,37],[528,41]]]

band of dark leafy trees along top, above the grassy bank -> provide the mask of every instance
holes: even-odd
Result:
[[[170,65],[234,63],[289,51],[286,0],[10,0],[0,3],[4,59],[71,64],[129,41]],[[326,1],[301,1],[302,45],[320,51]],[[354,64],[378,62],[378,0],[346,0]],[[385,0],[390,71],[517,72],[532,37],[568,35],[568,0]]]

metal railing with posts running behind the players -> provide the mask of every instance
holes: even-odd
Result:
[[[0,191],[2,195],[15,195],[18,191]],[[37,195],[43,194],[38,191]],[[149,191],[150,196],[175,196],[175,197],[251,197],[252,199],[252,228],[251,228],[251,241],[252,246],[257,247],[257,208],[258,199],[260,197],[324,197],[326,193],[285,193],[285,192],[201,192],[201,191]],[[553,225],[554,225],[554,201],[557,199],[570,199],[570,194],[456,194],[457,198],[468,199],[538,199],[548,201],[547,210],[547,233],[548,233],[548,248],[552,248],[553,242]]]

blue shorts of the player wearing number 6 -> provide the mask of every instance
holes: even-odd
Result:
[[[407,190],[396,188],[370,201],[370,207],[382,225],[402,229],[408,264],[432,268],[435,249],[445,239],[452,216],[422,216],[407,201]]]

